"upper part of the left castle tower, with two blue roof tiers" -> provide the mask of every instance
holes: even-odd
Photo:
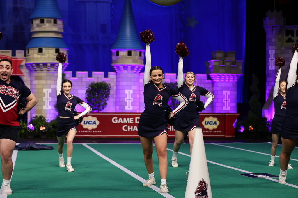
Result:
[[[62,36],[64,19],[57,0],[37,0],[29,19],[32,37],[26,46],[27,63],[55,63],[57,53],[68,53]],[[39,70],[34,66],[28,69]]]

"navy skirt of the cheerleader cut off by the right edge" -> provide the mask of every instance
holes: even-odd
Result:
[[[281,126],[281,137],[284,139],[298,138],[298,119],[285,117]]]

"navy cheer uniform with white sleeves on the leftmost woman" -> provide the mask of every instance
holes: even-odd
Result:
[[[77,96],[71,95],[67,97],[66,94],[61,90],[61,79],[62,79],[62,64],[59,63],[58,66],[58,78],[57,78],[57,105],[58,105],[58,115],[67,118],[58,118],[57,132],[58,137],[66,135],[70,130],[75,129],[77,132],[77,123],[75,122],[75,106],[76,104],[81,105],[86,110],[79,115],[83,117],[92,111],[92,108],[86,104],[82,99]]]

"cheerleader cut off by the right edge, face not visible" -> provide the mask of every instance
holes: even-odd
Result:
[[[281,141],[283,149],[280,153],[280,174],[279,183],[286,183],[287,167],[291,158],[291,153],[295,148],[298,139],[298,42],[294,44],[294,56],[291,60],[290,69],[287,78],[287,108],[285,110],[285,119],[281,126]]]

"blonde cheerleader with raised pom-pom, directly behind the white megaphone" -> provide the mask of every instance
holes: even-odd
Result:
[[[180,48],[186,48],[186,45],[182,42],[178,43],[176,46],[176,51],[179,51]],[[214,95],[197,85],[195,74],[193,72],[187,72],[183,80],[183,56],[179,54],[179,63],[178,63],[178,74],[177,74],[177,85],[178,91],[183,94],[188,99],[188,105],[176,115],[176,121],[174,125],[176,139],[174,142],[172,166],[178,167],[177,162],[177,153],[180,149],[181,144],[183,143],[184,134],[188,132],[188,139],[190,144],[190,155],[193,150],[193,140],[195,137],[195,127],[200,126],[199,113],[197,110],[197,102],[200,100],[200,96],[207,97],[207,101],[204,104],[204,109],[213,101]],[[188,54],[185,54],[186,56]],[[195,82],[196,86],[193,85]]]

